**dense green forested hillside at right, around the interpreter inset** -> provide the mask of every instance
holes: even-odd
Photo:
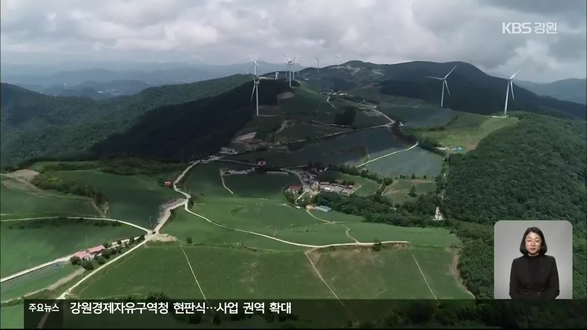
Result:
[[[491,292],[492,274],[485,269],[493,262],[487,251],[497,221],[568,220],[574,235],[573,298],[585,298],[587,124],[516,116],[517,125],[485,137],[476,150],[450,157],[443,213],[462,223],[461,276],[469,289]]]

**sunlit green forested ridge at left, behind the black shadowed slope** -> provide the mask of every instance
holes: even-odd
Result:
[[[122,133],[147,111],[226,92],[249,81],[233,75],[204,82],[150,87],[109,100],[55,97],[0,85],[2,166],[42,155],[82,153],[113,133]]]

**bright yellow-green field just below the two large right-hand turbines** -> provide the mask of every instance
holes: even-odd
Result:
[[[421,137],[437,141],[447,147],[462,147],[464,151],[472,150],[488,134],[505,126],[514,125],[517,118],[496,118],[458,112],[457,119],[444,130],[418,132]]]

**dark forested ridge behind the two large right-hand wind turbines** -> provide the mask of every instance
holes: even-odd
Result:
[[[481,115],[503,112],[507,80],[487,75],[465,62],[374,64],[352,60],[343,63],[340,68],[327,66],[319,72],[307,68],[302,70],[301,77],[323,90],[379,85],[382,86],[380,92],[387,95],[411,97],[440,105],[442,83],[427,76],[444,77],[454,66],[457,68],[447,78],[450,95],[444,92],[444,107]],[[583,89],[583,98],[585,93]],[[514,98],[510,95],[510,111],[523,110],[579,119],[587,117],[585,105],[538,96],[518,85],[514,86]]]

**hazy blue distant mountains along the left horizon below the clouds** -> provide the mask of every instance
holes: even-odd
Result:
[[[285,63],[267,63],[257,61],[257,73],[274,72],[284,70]],[[26,74],[31,72],[30,69],[6,68],[2,75],[2,82],[11,83],[12,85],[21,86],[26,89],[43,92],[46,88],[53,85],[67,84],[68,86],[80,85],[87,80],[96,83],[109,83],[116,80],[138,80],[150,86],[161,86],[178,83],[198,82],[201,80],[222,78],[225,76],[244,74],[247,69],[253,72],[252,65],[247,63],[232,65],[190,65],[187,63],[163,63],[147,69],[139,66],[139,69],[133,70],[113,70],[113,69],[78,69],[78,70],[60,70],[59,72],[43,75]],[[301,67],[303,69],[303,67]],[[3,69],[4,70],[4,69]],[[22,73],[18,73],[22,72]],[[18,73],[18,74],[15,74]],[[99,88],[90,86],[100,92]],[[44,93],[44,92],[43,92]],[[55,95],[50,93],[51,95]],[[56,94],[58,95],[58,94]]]

